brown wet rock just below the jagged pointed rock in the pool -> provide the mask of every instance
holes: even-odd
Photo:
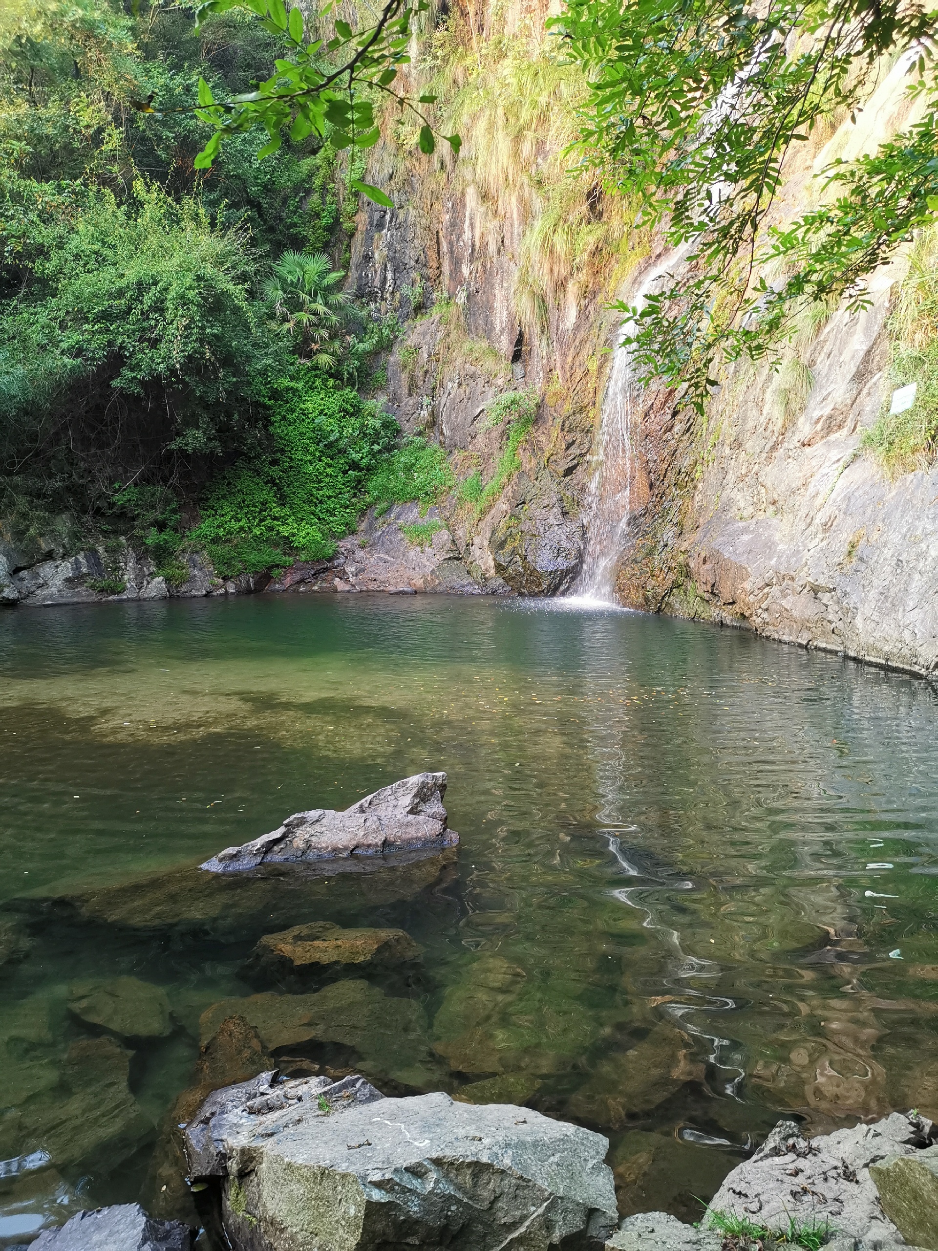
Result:
[[[403,929],[343,929],[330,921],[313,921],[264,934],[245,973],[256,981],[304,982],[384,972],[416,962],[420,956],[420,948]]]

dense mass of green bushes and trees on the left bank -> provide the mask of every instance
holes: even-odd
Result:
[[[239,90],[280,51],[246,13],[199,28],[193,10],[118,0],[0,11],[0,517],[15,530],[68,517],[69,542],[123,534],[179,583],[198,544],[224,574],[326,555],[366,504],[399,432],[349,388],[380,384],[396,323],[341,289],[356,208],[341,138],[328,125],[259,160],[263,138],[240,130],[211,169],[198,160],[200,90]],[[133,106],[150,96],[160,113]],[[395,498],[424,498],[426,473],[406,495],[400,455]]]

